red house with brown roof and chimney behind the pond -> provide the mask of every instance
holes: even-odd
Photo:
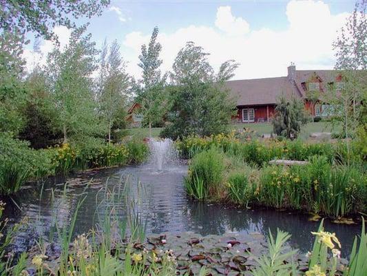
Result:
[[[226,86],[236,101],[235,120],[252,123],[269,121],[279,97],[304,100],[306,110],[313,116],[331,115],[333,108],[327,104],[317,103],[314,108],[307,99],[307,92],[322,93],[329,85],[336,85],[338,89],[342,84],[342,76],[335,70],[296,70],[291,64],[286,77],[227,81]]]

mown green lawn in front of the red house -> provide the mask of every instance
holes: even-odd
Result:
[[[232,129],[250,128],[258,132],[260,135],[263,135],[264,133],[271,133],[271,131],[273,130],[273,126],[271,126],[271,124],[268,123],[231,124],[231,128]],[[151,136],[158,137],[160,134],[160,130],[162,130],[162,128],[152,128]],[[309,123],[303,128],[301,137],[303,139],[307,139],[312,132],[335,132],[338,130],[339,128],[332,130],[331,124],[328,124],[327,122],[324,121],[320,121],[317,123]],[[149,129],[130,128],[126,130],[126,134],[131,135],[136,139],[143,139],[144,137],[149,137]]]

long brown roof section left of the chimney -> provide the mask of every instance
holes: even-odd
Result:
[[[275,104],[281,96],[286,99],[291,99],[292,96],[301,97],[288,77],[227,81],[226,86],[237,106]]]

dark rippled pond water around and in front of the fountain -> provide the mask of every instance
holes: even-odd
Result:
[[[144,190],[139,211],[147,221],[147,233],[193,231],[201,235],[237,232],[241,235],[267,235],[269,229],[276,233],[276,229],[280,228],[292,235],[292,246],[300,248],[303,253],[311,249],[311,231],[317,230],[319,222],[309,221],[307,215],[286,211],[246,210],[198,203],[185,195],[183,178],[186,173],[185,164],[176,164],[160,172],[154,166],[145,164],[53,177],[38,185],[25,187],[13,198],[19,207],[8,201],[5,213],[14,221],[28,219],[28,226],[15,239],[14,249],[23,251],[34,245],[34,240],[39,237],[50,237],[55,219],[61,226],[69,224],[78,201],[84,196],[85,201],[78,210],[75,233],[86,233],[98,222],[98,217],[104,215],[106,208],[103,204],[111,204],[103,201],[101,195],[105,183],[112,189],[124,181],[130,183],[132,197],[137,197],[138,190]],[[115,204],[123,217],[124,203],[119,201]],[[331,221],[325,221],[325,226],[326,230],[335,232],[339,237],[342,252],[347,257],[353,237],[359,235],[361,226],[333,224]]]

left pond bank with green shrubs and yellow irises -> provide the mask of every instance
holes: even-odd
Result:
[[[16,193],[30,180],[37,180],[75,170],[138,164],[144,161],[148,147],[140,141],[105,144],[90,141],[63,144],[54,148],[33,150],[25,141],[9,135],[0,137],[0,194]]]

